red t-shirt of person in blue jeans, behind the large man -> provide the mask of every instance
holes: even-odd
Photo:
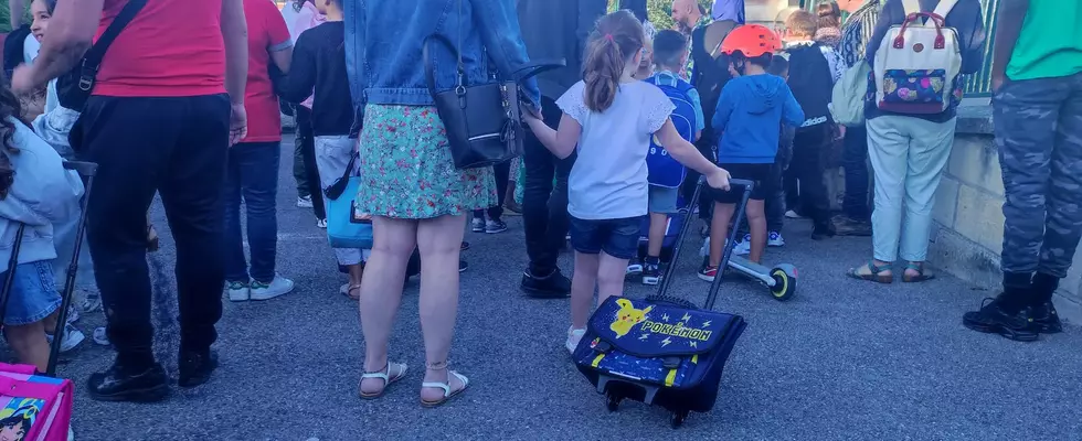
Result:
[[[293,45],[289,28],[270,0],[244,0],[248,23],[248,82],[244,87],[244,110],[248,115],[248,136],[243,142],[282,140],[282,114],[268,68],[270,52]]]

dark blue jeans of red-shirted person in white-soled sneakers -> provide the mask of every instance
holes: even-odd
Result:
[[[242,142],[230,149],[225,173],[225,280],[269,282],[278,243],[279,142]],[[241,200],[247,217],[252,269],[244,260],[241,237]]]

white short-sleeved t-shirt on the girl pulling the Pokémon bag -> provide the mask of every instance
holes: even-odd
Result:
[[[620,219],[647,213],[646,154],[650,137],[676,108],[649,83],[620,84],[612,107],[594,112],[585,84],[571,86],[556,106],[582,125],[579,158],[567,180],[567,213],[580,219]]]

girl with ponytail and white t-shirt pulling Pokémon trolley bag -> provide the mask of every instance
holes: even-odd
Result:
[[[571,155],[577,146],[567,192],[575,271],[565,345],[572,352],[585,333],[594,288],[598,303],[620,295],[627,261],[638,254],[647,215],[650,137],[673,159],[706,175],[711,186],[729,187],[729,172],[703,158],[672,126],[669,114],[675,107],[668,96],[632,77],[645,39],[643,23],[630,12],[603,17],[586,43],[583,80],[556,100],[563,110],[559,130],[535,114],[527,117],[533,133],[556,157]]]

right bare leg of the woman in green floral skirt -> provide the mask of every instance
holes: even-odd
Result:
[[[421,332],[425,341],[424,380],[448,383],[446,369],[450,342],[458,318],[458,258],[462,250],[466,216],[441,216],[424,219],[417,226],[417,248],[421,251]],[[409,254],[405,255],[409,258]],[[405,260],[403,260],[405,261]],[[397,273],[401,292],[404,272]],[[464,385],[457,378],[448,384],[452,390]],[[438,401],[443,389],[422,388],[421,399]]]

